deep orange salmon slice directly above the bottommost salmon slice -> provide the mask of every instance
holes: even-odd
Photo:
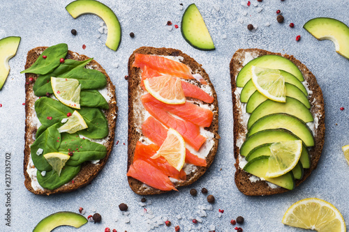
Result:
[[[166,176],[170,176],[177,180],[186,180],[186,172],[184,170],[178,171],[172,167],[164,157],[160,156],[156,159],[150,158],[159,148],[160,147],[156,146],[155,144],[145,145],[138,141],[135,146],[133,162],[135,162],[135,160],[144,160],[145,162],[151,164],[151,166],[160,169]]]

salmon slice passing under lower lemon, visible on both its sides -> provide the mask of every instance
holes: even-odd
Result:
[[[142,125],[142,133],[145,137],[153,141],[157,146],[161,146],[166,139],[168,130],[155,118],[149,117]],[[137,147],[136,147],[137,148]],[[198,157],[186,149],[186,163],[200,167],[207,167],[205,159]]]

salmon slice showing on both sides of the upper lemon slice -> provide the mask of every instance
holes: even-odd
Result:
[[[161,76],[161,73],[148,68],[147,65],[144,66],[143,72],[142,72],[142,81],[140,83],[140,86],[144,88],[144,79],[151,78],[151,77],[159,77]],[[201,88],[198,86],[195,86],[195,84],[191,84],[188,82],[181,81],[181,88],[183,88],[184,95],[188,98],[195,98],[198,100],[202,100],[202,102],[207,102],[207,103],[212,103],[214,102],[214,97],[203,91]]]

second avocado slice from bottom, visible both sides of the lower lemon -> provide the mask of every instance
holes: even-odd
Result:
[[[253,160],[255,157],[259,157],[262,155],[270,156],[271,155],[270,145],[272,144],[262,144],[260,146],[253,148],[253,150],[251,150],[248,153],[248,155],[246,155],[245,160],[250,161],[250,160]],[[302,148],[302,154],[301,154],[301,157],[299,158],[299,162],[304,164],[309,169],[310,167],[309,151],[308,149],[306,149],[305,146],[303,146]],[[302,165],[302,169],[303,169],[303,165]]]

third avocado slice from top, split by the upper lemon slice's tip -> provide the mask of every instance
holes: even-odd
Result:
[[[306,106],[306,108],[310,109],[310,103],[308,98],[306,98],[306,95],[302,91],[300,91],[299,88],[292,84],[285,83],[286,87],[286,96],[295,98],[299,100],[299,102],[302,102],[303,105]],[[246,105],[246,112],[252,113],[255,108],[257,108],[262,102],[265,102],[268,98],[266,98],[264,95],[262,95],[260,92],[255,91],[251,95],[251,97],[248,99],[247,105]]]

